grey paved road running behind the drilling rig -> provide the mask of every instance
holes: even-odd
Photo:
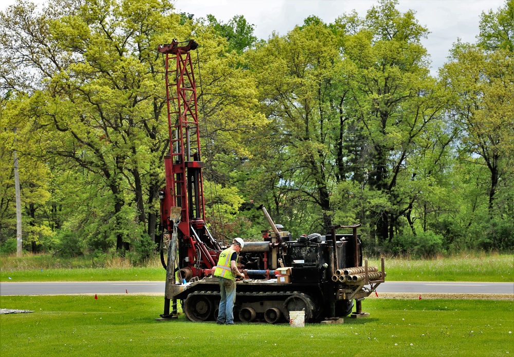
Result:
[[[510,282],[386,281],[378,293],[514,294]],[[0,295],[162,294],[160,281],[3,282]]]

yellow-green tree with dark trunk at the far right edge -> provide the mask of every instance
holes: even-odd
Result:
[[[514,148],[514,57],[501,48],[457,43],[442,75],[453,91],[451,115],[463,130],[463,147],[481,156],[490,171],[492,216],[495,194],[502,176],[510,172]]]

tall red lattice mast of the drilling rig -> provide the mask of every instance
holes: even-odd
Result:
[[[159,46],[159,51],[164,54],[170,136],[170,154],[164,158],[166,192],[161,222],[165,229],[171,231],[170,207],[181,207],[179,265],[189,267],[194,276],[201,277],[204,269],[212,269],[216,265],[214,260],[219,245],[205,227],[201,173],[204,163],[200,160],[198,104],[190,53],[197,46],[193,40],[182,43],[173,40],[169,45]],[[198,256],[201,257],[199,261]]]

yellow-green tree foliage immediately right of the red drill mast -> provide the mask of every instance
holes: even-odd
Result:
[[[212,16],[211,20],[217,23]],[[253,30],[249,27],[248,31],[245,36],[252,42]],[[234,50],[231,39],[212,23],[197,24],[195,33],[199,43],[195,73],[202,159],[206,162],[203,175],[207,221],[211,233],[225,239],[240,229],[237,222],[247,226],[248,220],[237,218],[243,201],[236,196],[245,195],[246,180],[241,172],[253,157],[249,143],[267,120],[260,112],[256,82],[249,76],[246,61],[240,51]]]

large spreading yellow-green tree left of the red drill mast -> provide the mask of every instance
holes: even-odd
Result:
[[[164,33],[188,29],[178,30],[179,16],[170,14],[167,1],[70,4],[53,3],[38,13],[20,2],[3,14],[5,60],[22,64],[5,83],[18,83],[23,71],[36,73],[43,86],[21,81],[17,88],[44,90],[32,99],[39,124],[61,133],[47,151],[102,177],[113,201],[111,235],[126,249],[132,235],[124,226],[145,223],[146,209],[152,211],[149,232],[155,229],[159,155],[168,146],[167,136],[158,134],[166,132],[167,120],[160,115],[155,49],[168,38]],[[122,217],[126,205],[135,217]]]

